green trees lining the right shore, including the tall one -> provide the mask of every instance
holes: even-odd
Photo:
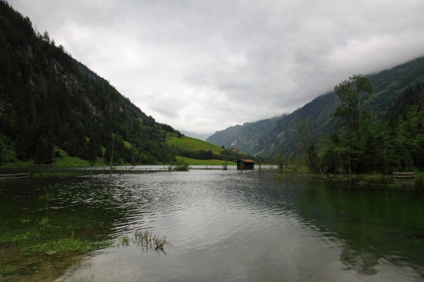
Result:
[[[312,136],[307,121],[300,122],[298,139],[312,172],[389,174],[424,169],[423,83],[407,87],[380,119],[364,106],[372,95],[368,76],[354,75],[335,91],[338,122],[328,140]]]

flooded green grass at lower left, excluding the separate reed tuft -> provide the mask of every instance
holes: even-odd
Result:
[[[55,200],[44,192],[24,213],[13,206],[2,211],[12,214],[0,217],[0,281],[54,281],[83,254],[111,246],[106,237],[86,236],[85,220],[70,222],[66,213],[42,212]],[[91,232],[102,233],[95,228]]]

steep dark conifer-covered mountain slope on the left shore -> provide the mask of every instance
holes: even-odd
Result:
[[[163,163],[174,134],[0,1],[0,160]]]

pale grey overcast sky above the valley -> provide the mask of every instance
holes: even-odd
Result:
[[[424,56],[423,0],[8,2],[157,122],[197,133]]]

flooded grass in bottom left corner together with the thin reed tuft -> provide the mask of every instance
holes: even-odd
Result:
[[[23,224],[29,223],[26,220],[22,220]],[[35,226],[15,235],[1,236],[0,281],[54,281],[67,268],[81,264],[83,255],[114,246],[111,240],[76,238],[67,228],[58,230],[58,226],[51,226],[47,217],[40,219]],[[60,233],[68,235],[62,237]],[[142,251],[166,254],[165,248],[170,246],[170,241],[153,231],[139,230],[134,231],[131,238],[118,238],[115,247],[129,247],[130,244],[135,244]]]

